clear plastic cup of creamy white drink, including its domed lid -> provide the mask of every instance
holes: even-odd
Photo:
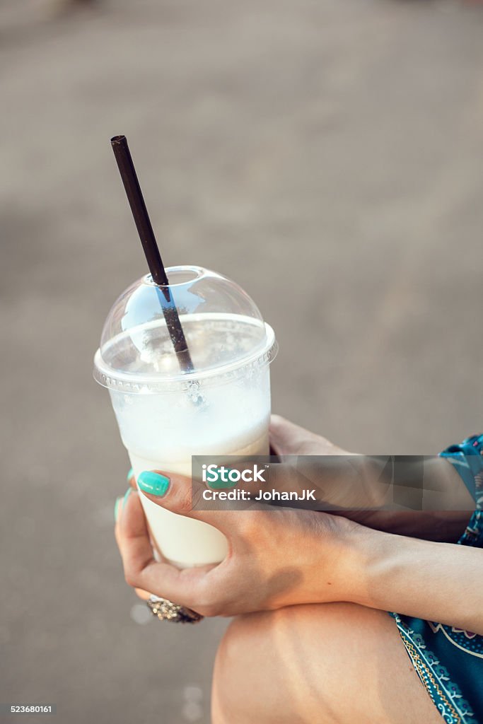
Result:
[[[192,455],[268,455],[272,327],[227,277],[201,266],[167,275],[193,371],[180,369],[149,274],[114,303],[94,358],[136,479],[146,470],[190,476]],[[223,560],[220,531],[140,500],[155,552],[180,568]]]

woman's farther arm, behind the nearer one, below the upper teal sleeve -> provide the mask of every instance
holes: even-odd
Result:
[[[351,453],[333,445],[324,437],[314,434],[280,416],[272,416],[270,425],[272,448],[282,460],[292,455],[316,455],[314,481],[322,477],[324,497],[320,510],[342,515],[369,528],[425,540],[455,543],[463,534],[474,510],[474,500],[453,465],[437,456],[424,458],[424,463],[395,463],[395,484],[385,485],[381,470],[384,463],[371,463],[377,458],[353,457]],[[340,475],[324,479],[324,457],[328,461],[329,476],[333,476],[329,460],[340,460]],[[310,459],[310,458],[308,458]],[[361,475],[345,476],[343,464],[356,460]],[[367,460],[367,463],[364,463]],[[422,465],[422,467],[421,467]],[[337,466],[335,466],[337,468]],[[422,479],[421,479],[422,478]],[[414,491],[419,487],[421,508],[411,510]],[[330,510],[335,505],[341,510]],[[357,510],[357,508],[362,508]],[[366,510],[364,510],[366,508]],[[314,508],[313,508],[314,509]]]

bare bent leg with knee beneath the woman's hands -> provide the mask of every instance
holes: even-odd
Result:
[[[213,724],[441,724],[390,616],[354,604],[236,618],[214,668]]]

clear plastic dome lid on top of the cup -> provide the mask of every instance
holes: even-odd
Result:
[[[138,279],[109,312],[94,358],[97,382],[128,392],[161,392],[205,379],[245,374],[272,361],[272,327],[235,282],[201,266],[171,266],[169,292],[193,369],[181,369],[164,318],[163,290],[151,274]]]

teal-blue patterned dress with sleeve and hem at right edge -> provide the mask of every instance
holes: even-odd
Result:
[[[441,455],[453,463],[476,501],[458,544],[483,548],[483,435],[451,445]],[[482,580],[482,576],[476,579]],[[483,724],[483,636],[436,621],[391,615],[442,719],[447,724]]]

